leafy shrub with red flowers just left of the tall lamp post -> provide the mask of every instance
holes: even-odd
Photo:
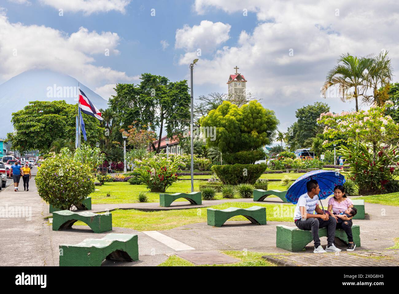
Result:
[[[151,192],[165,192],[170,185],[177,181],[176,172],[181,165],[181,159],[175,157],[173,160],[166,158],[150,158],[146,164],[141,164],[134,171],[138,178],[147,185]]]

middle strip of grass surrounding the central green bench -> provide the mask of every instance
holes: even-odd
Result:
[[[252,206],[266,207],[267,221],[292,221],[289,213],[293,213],[293,205],[265,203],[223,203],[213,205],[211,208],[225,209],[228,207],[249,208]],[[284,209],[285,208],[285,209]],[[132,228],[138,231],[169,230],[185,224],[194,224],[207,221],[207,207],[193,209],[172,209],[168,211],[139,211],[136,209],[117,209],[112,211],[112,225],[122,228]],[[292,211],[291,211],[292,210]],[[229,221],[248,221],[243,216],[232,217]],[[249,221],[248,221],[249,222]],[[75,222],[75,225],[86,225],[83,222]]]

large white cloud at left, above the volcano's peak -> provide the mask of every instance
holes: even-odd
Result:
[[[71,75],[88,87],[126,82],[134,77],[109,67],[93,65],[95,54],[117,54],[116,33],[79,28],[70,36],[46,26],[10,23],[4,10],[0,14],[0,80],[26,70],[49,69]]]

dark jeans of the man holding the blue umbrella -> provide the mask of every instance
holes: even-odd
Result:
[[[295,224],[301,230],[312,231],[314,247],[316,248],[320,246],[319,228],[327,227],[327,246],[331,246],[331,244],[334,243],[335,227],[337,224],[337,221],[334,217],[330,217],[328,221],[314,218],[306,220],[298,219]]]

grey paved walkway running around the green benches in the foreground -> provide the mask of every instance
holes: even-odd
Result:
[[[42,201],[37,194],[34,180],[31,180],[29,192],[14,192],[12,187],[6,188],[0,193],[1,207],[28,207],[28,217],[0,217],[0,260],[2,265],[58,265],[59,245],[76,244],[86,238],[102,238],[109,232],[95,234],[88,226],[73,226],[70,230],[53,231],[48,225],[48,220],[44,219],[49,215],[48,205]],[[253,199],[226,199],[216,201],[204,201],[202,206],[215,205],[223,202],[253,202]],[[323,201],[326,205],[327,200]],[[267,198],[267,203],[280,203],[279,198]],[[183,206],[184,205],[184,206]],[[93,205],[94,211],[104,211],[116,208],[135,208],[154,209],[159,203],[133,203],[118,205]],[[170,209],[188,208],[194,205],[186,205],[184,202],[176,202]],[[31,209],[31,210],[29,210]],[[399,207],[384,206],[378,204],[365,204],[367,219],[354,220],[354,224],[361,227],[361,247],[356,248],[354,253],[362,254],[364,250],[371,250],[378,254],[387,255],[389,258],[371,256],[364,258],[362,255],[354,255],[362,264],[377,262],[381,260],[390,263],[395,262],[393,254],[396,251],[384,250],[384,248],[394,245],[393,238],[399,237]],[[31,211],[31,213],[29,213]],[[160,219],[162,221],[162,219]],[[228,221],[220,228],[211,227],[206,222],[187,224],[170,230],[160,231],[137,231],[129,228],[113,227],[110,232],[129,233],[138,235],[139,258],[138,262],[114,262],[107,260],[103,263],[106,266],[152,266],[165,261],[171,254],[181,254],[185,252],[215,252],[217,250],[239,250],[272,253],[274,256],[282,256],[288,253],[285,250],[276,248],[276,225],[285,224],[294,226],[293,222],[268,221],[267,225],[255,225],[248,221]],[[321,238],[322,246],[326,245],[326,238]],[[346,249],[345,246],[339,246]],[[298,256],[298,263],[307,256],[314,256],[312,243],[308,244],[304,252],[291,254],[291,260],[287,263],[294,263],[294,256]],[[383,253],[381,253],[383,252]],[[388,252],[388,253],[387,253]],[[391,253],[394,252],[394,253]],[[201,253],[202,254],[202,253]],[[181,254],[184,256],[184,254]],[[286,256],[286,255],[284,255]],[[303,257],[300,257],[303,256]],[[352,254],[342,252],[343,259],[354,258]],[[336,262],[334,253],[327,254],[326,258]],[[301,259],[302,258],[302,259]],[[341,258],[341,257],[339,257]],[[324,264],[328,265],[326,261]],[[388,265],[388,264],[386,264]],[[391,265],[391,264],[389,264]]]

